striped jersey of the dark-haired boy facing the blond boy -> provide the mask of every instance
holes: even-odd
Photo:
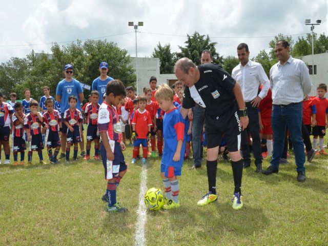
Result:
[[[98,113],[98,130],[107,132],[109,140],[121,141],[122,131],[116,109],[104,101]]]

